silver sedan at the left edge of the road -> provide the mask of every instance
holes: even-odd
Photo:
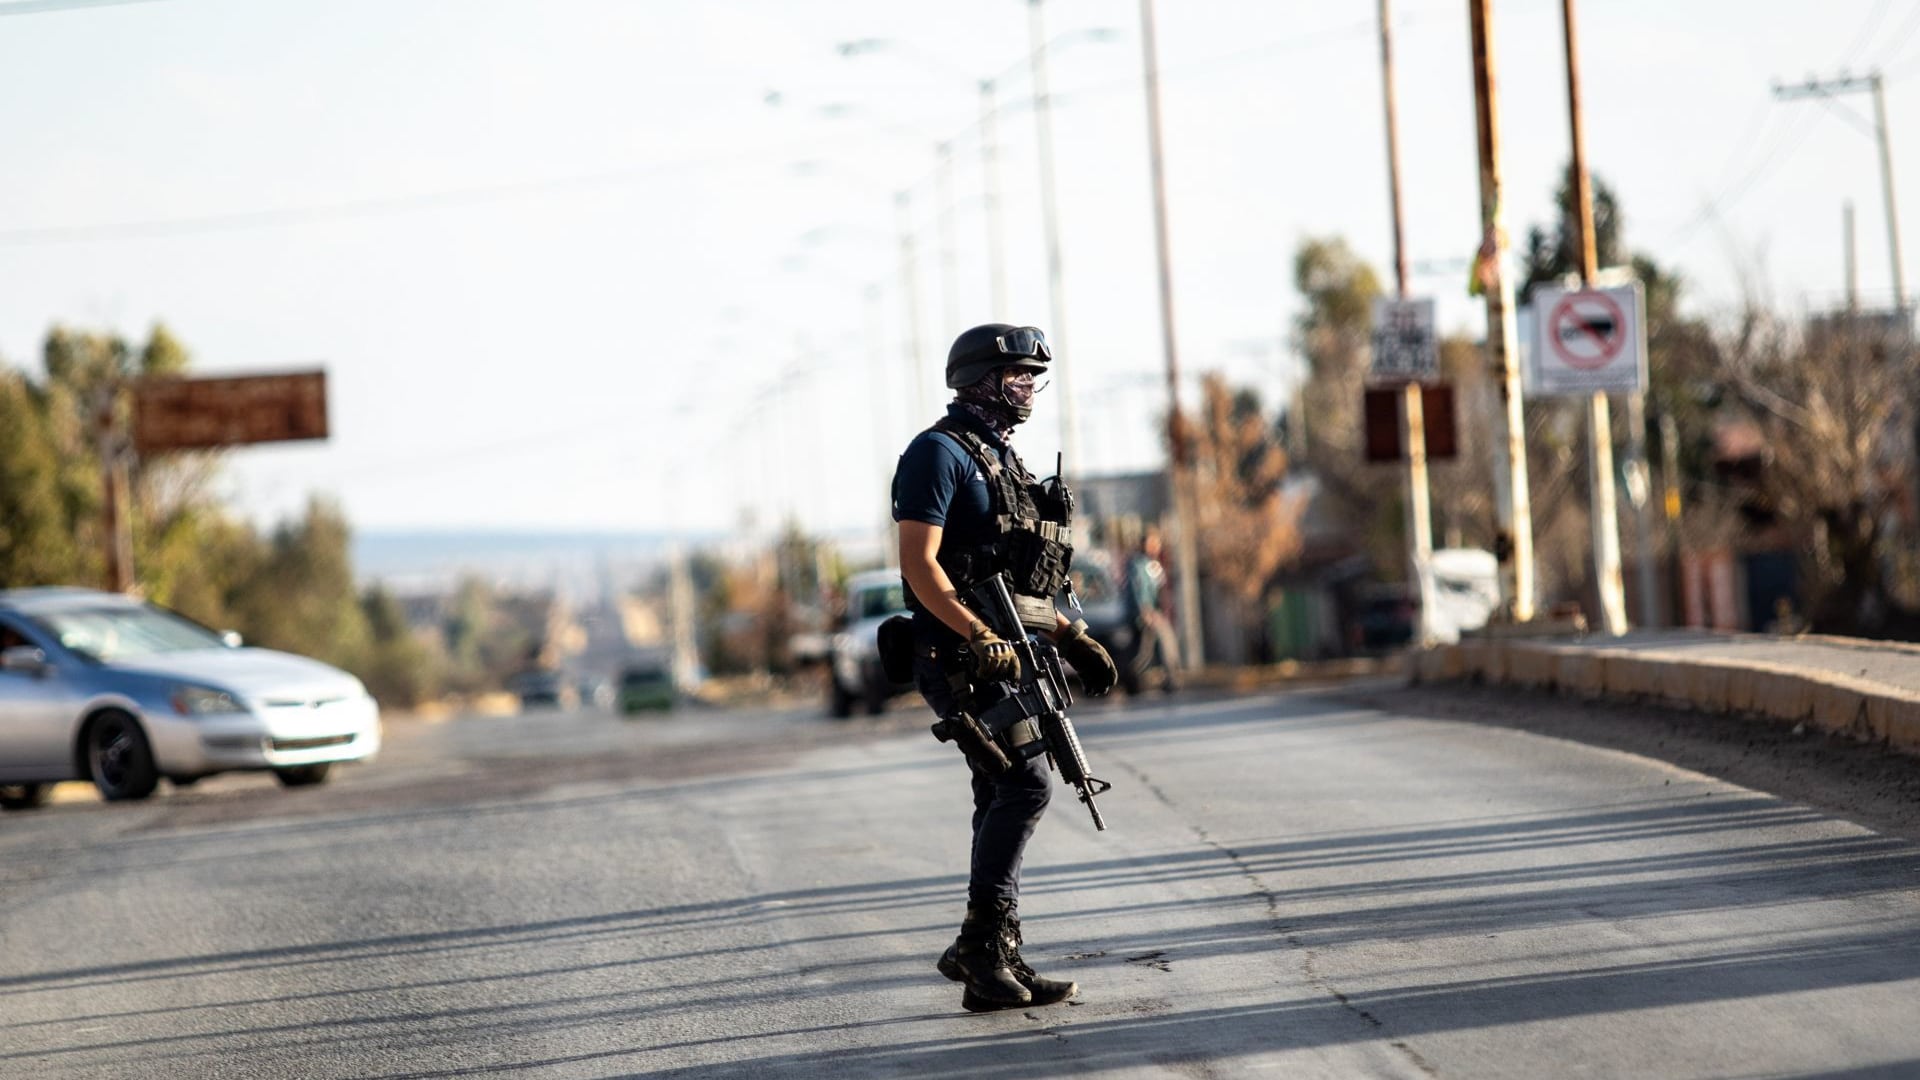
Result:
[[[294,788],[378,749],[378,705],[336,667],[109,592],[0,590],[0,807],[60,780],[108,799],[242,769]]]

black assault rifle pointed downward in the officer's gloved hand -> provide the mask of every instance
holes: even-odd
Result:
[[[1104,796],[1114,784],[1087,773],[1087,753],[1073,732],[1073,721],[1068,719],[1073,692],[1068,690],[1060,650],[1050,640],[1029,634],[1021,625],[1006,575],[995,575],[973,586],[973,611],[995,634],[1010,642],[1020,657],[1018,680],[973,688],[981,709],[979,724],[1010,753],[1021,757],[1046,753],[1060,778],[1087,803],[1092,826],[1106,832],[1106,821],[1092,798]]]

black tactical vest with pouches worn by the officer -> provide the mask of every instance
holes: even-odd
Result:
[[[954,417],[941,417],[927,432],[952,438],[973,459],[987,480],[987,513],[993,517],[985,542],[966,548],[943,542],[935,561],[960,596],[989,577],[1006,573],[1020,621],[1033,630],[1052,630],[1054,598],[1066,588],[1073,567],[1073,490],[1058,477],[1035,480],[1012,448],[1006,452],[1012,465],[1002,463],[979,432]],[[924,611],[912,588],[906,598],[908,607]]]

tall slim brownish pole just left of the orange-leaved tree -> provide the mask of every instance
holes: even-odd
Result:
[[[1154,181],[1154,252],[1160,271],[1160,344],[1167,357],[1167,494],[1173,503],[1173,553],[1179,580],[1181,651],[1200,667],[1206,638],[1200,628],[1200,515],[1187,461],[1187,417],[1181,415],[1181,361],[1173,334],[1173,258],[1167,244],[1167,175],[1160,154],[1160,58],[1154,46],[1154,0],[1140,0],[1140,52],[1146,69],[1146,156]]]

